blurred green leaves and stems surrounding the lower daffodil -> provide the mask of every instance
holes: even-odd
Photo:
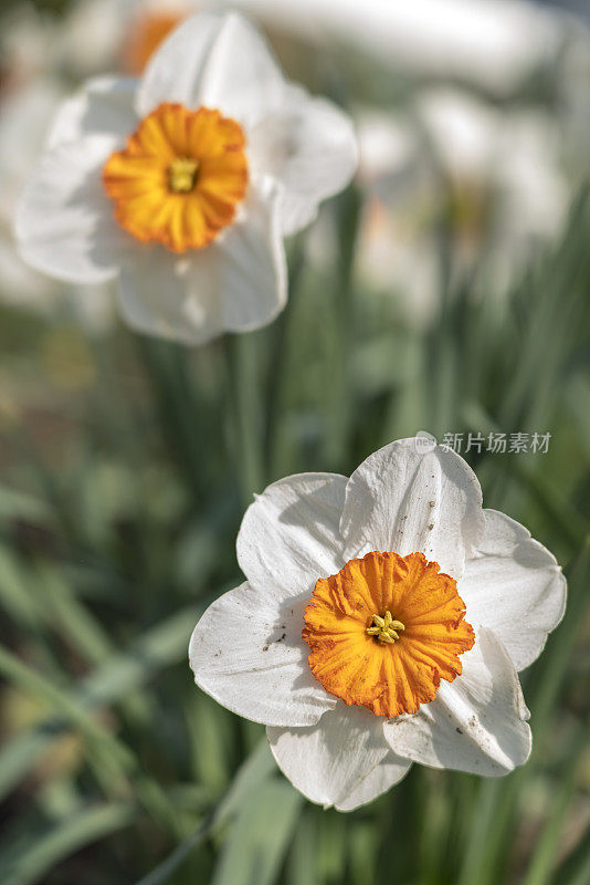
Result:
[[[357,200],[334,209],[350,219]],[[505,312],[449,292],[428,333],[349,267],[322,279],[301,241],[277,323],[199,352],[3,311],[2,883],[583,885],[589,237],[582,194]],[[54,377],[44,342],[65,327],[87,350],[72,344]],[[497,427],[552,434],[547,455],[467,457],[486,503],[570,579],[566,620],[523,674],[534,756],[498,781],[414,767],[357,812],[313,808],[263,729],[197,691],[186,662],[199,613],[240,581],[250,494],[298,470],[349,472],[417,429]]]

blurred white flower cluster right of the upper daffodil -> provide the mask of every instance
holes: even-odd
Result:
[[[439,303],[441,220],[459,271],[482,261],[483,289],[493,294],[562,230],[571,185],[558,122],[541,111],[503,111],[457,90],[423,90],[411,118],[360,115],[358,137],[368,194],[359,270],[401,293],[418,324],[432,320]]]

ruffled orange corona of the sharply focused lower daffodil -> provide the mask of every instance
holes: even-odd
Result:
[[[436,562],[373,551],[317,581],[302,635],[327,691],[393,718],[418,712],[441,679],[461,674],[475,641],[464,615],[456,582]]]

